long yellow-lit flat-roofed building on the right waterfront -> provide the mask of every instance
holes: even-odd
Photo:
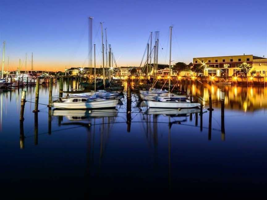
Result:
[[[239,66],[242,63],[252,65],[252,70],[256,70],[256,76],[267,76],[267,59],[253,55],[241,56],[216,56],[216,57],[199,57],[193,58],[193,65],[204,65],[203,74],[205,76],[233,76],[236,71],[240,70]],[[250,76],[250,73],[247,74]]]

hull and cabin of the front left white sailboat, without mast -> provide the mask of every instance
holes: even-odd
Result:
[[[91,98],[89,96],[74,96],[59,98],[53,101],[52,106],[58,109],[103,109],[115,108],[118,99]]]

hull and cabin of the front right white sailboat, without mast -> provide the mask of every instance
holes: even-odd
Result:
[[[148,100],[147,105],[150,108],[195,108],[200,103],[190,102],[186,97],[158,97],[155,101]]]

